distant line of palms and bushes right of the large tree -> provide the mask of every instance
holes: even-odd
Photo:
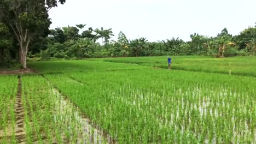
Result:
[[[224,28],[216,37],[198,33],[190,35],[190,41],[179,38],[149,42],[147,38],[127,39],[123,32],[117,41],[110,40],[112,28],[88,28],[86,25],[51,29],[45,39],[44,49],[34,47],[30,57],[82,59],[90,57],[138,57],[162,55],[208,55],[228,57],[254,55],[256,52],[256,28],[249,27],[238,35],[231,35]],[[99,42],[100,41],[100,42]],[[40,44],[38,44],[40,45]]]

